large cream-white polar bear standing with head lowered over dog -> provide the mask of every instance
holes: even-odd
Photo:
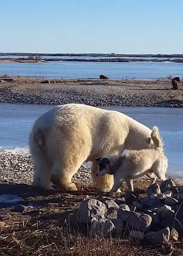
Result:
[[[92,161],[92,176],[101,191],[109,191],[113,176],[97,177],[98,157],[153,145],[151,130],[118,111],[70,103],[55,106],[39,117],[29,136],[33,186],[51,190],[50,181],[77,190],[72,176],[84,161]]]

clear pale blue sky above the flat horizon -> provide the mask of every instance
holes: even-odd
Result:
[[[0,51],[183,53],[182,0],[1,0]]]

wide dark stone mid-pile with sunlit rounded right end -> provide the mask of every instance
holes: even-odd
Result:
[[[144,231],[147,230],[152,218],[148,214],[139,214],[138,212],[118,211],[118,218],[124,221],[130,230]]]

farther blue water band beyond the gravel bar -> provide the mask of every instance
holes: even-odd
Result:
[[[112,79],[160,77],[183,78],[183,63],[175,62],[46,62],[5,63],[0,60],[0,75],[38,76],[47,78],[99,78],[100,74]]]

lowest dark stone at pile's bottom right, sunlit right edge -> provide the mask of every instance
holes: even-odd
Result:
[[[165,227],[158,231],[148,231],[145,234],[145,239],[151,245],[163,245],[164,243],[169,242],[170,239],[170,228]]]

